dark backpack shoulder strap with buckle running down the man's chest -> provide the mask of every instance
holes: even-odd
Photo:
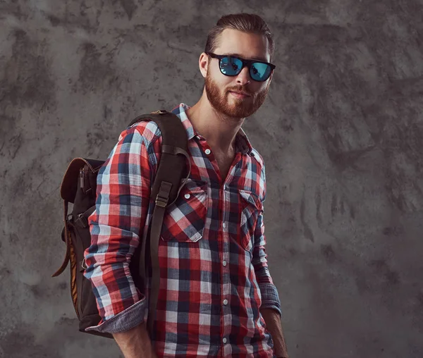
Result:
[[[149,227],[149,254],[147,260],[147,240],[142,242],[140,253],[140,276],[142,282],[146,283],[145,263],[151,262],[152,283],[149,292],[149,314],[147,328],[152,338],[154,330],[154,318],[159,297],[160,267],[159,267],[159,239],[161,226],[163,225],[166,206],[176,201],[181,185],[185,163],[190,159],[188,155],[188,137],[180,118],[168,111],[156,111],[135,118],[129,126],[140,121],[153,121],[159,127],[162,136],[161,158],[157,168],[156,178],[152,185],[151,198],[154,200],[154,211],[151,225]]]

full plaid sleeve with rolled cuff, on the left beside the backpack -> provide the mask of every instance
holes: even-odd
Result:
[[[128,331],[147,319],[147,299],[129,264],[142,240],[149,209],[157,125],[143,122],[121,133],[97,175],[96,209],[84,276],[92,283],[101,321],[87,331]]]

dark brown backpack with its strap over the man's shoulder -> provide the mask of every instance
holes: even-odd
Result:
[[[149,292],[149,313],[147,330],[152,338],[154,312],[159,295],[159,236],[166,206],[173,204],[190,175],[185,173],[185,159],[188,159],[188,138],[178,116],[167,111],[155,111],[135,118],[129,125],[140,121],[154,121],[161,131],[161,159],[156,178],[152,183],[150,200],[154,200],[152,221],[147,240],[142,240],[130,262],[130,272],[140,292],[145,292],[147,272],[152,281]],[[69,164],[61,183],[61,198],[64,205],[64,227],[61,238],[66,243],[66,254],[60,268],[52,275],[59,276],[70,263],[71,297],[79,320],[79,331],[113,338],[110,333],[85,331],[97,326],[101,320],[90,280],[83,276],[85,265],[84,251],[91,245],[88,217],[95,210],[97,174],[105,161],[75,158]],[[181,181],[185,178],[181,185]],[[68,203],[73,204],[68,214]],[[147,271],[149,270],[149,271]]]

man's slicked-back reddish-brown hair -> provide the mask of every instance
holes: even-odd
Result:
[[[222,16],[207,35],[207,42],[204,52],[214,52],[219,44],[219,35],[225,29],[239,30],[247,33],[263,35],[269,42],[270,61],[274,56],[274,39],[269,27],[262,18],[251,13],[235,13]]]

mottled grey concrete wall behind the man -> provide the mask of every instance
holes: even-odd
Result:
[[[62,175],[195,104],[207,30],[235,12],[276,37],[244,128],[290,357],[423,357],[421,0],[0,1],[0,357],[119,357],[78,333],[68,270],[50,278]]]

